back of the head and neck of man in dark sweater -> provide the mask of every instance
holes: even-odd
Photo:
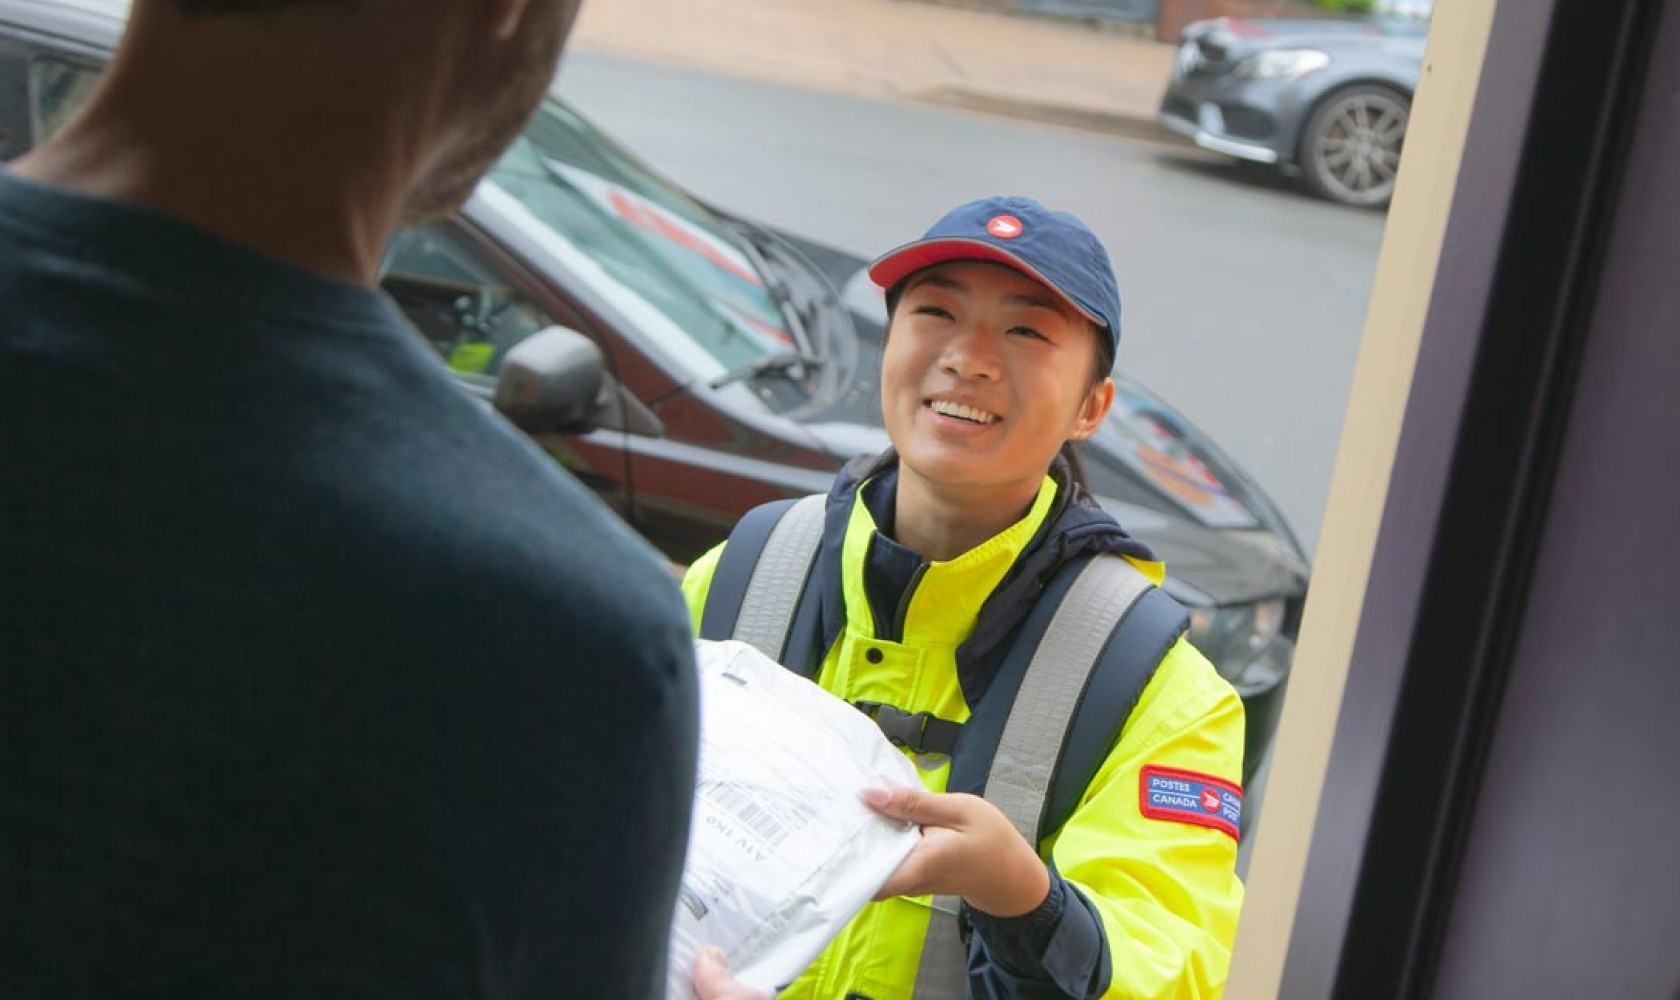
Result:
[[[307,160],[309,173],[339,165],[351,173],[373,161],[381,195],[400,195],[403,220],[413,222],[457,208],[519,133],[553,79],[578,7],[134,0],[113,69],[153,103],[197,87],[197,101],[176,103],[176,116],[188,119],[225,121],[227,104],[237,103],[240,128],[230,129],[230,143],[274,145]],[[366,187],[368,178],[351,183]]]

